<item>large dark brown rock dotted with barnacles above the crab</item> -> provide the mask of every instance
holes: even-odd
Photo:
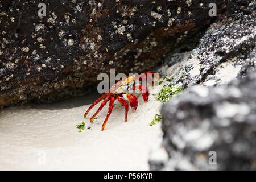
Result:
[[[152,68],[226,1],[47,0],[39,18],[40,2],[0,2],[0,107],[73,94],[110,68]]]

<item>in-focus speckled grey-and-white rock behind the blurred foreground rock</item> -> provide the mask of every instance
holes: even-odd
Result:
[[[188,52],[177,49],[167,56],[168,69],[163,72],[171,76],[170,85],[181,82],[184,88],[195,84],[218,86],[240,77],[244,64],[252,64],[247,59],[255,55],[255,10],[255,1],[230,5],[229,11],[220,15],[200,38],[198,47],[185,49]]]

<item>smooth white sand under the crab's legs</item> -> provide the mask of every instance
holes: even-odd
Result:
[[[0,110],[0,170],[8,169],[85,169],[85,170],[147,170],[151,148],[159,144],[160,123],[148,126],[161,103],[150,90],[150,101],[139,96],[135,113],[115,102],[105,131],[101,131],[108,106],[98,114],[92,125],[89,117],[98,105],[83,115],[95,95],[55,104],[24,105]],[[84,106],[83,106],[84,104]],[[89,130],[79,133],[76,125],[86,121]]]

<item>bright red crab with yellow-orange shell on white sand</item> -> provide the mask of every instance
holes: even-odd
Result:
[[[159,75],[153,71],[147,71],[145,73],[142,73],[141,75],[127,76],[126,78],[118,81],[109,89],[107,93],[104,93],[100,98],[97,98],[97,100],[94,101],[93,104],[89,106],[88,110],[84,114],[84,118],[86,118],[89,111],[96,104],[98,104],[98,102],[103,100],[101,102],[100,107],[96,111],[96,113],[94,113],[93,116],[90,118],[90,122],[93,122],[96,115],[101,111],[101,109],[109,101],[109,111],[101,127],[101,130],[103,131],[106,126],[106,123],[108,122],[109,116],[112,113],[112,110],[114,108],[114,101],[117,99],[120,102],[120,104],[125,107],[125,121],[127,121],[127,114],[129,110],[128,101],[130,101],[130,106],[133,111],[135,111],[138,107],[137,97],[133,94],[134,90],[138,90],[139,92],[141,92],[144,102],[147,102],[148,96],[149,96],[147,84],[154,86],[154,80],[153,80],[154,77],[159,78]]]

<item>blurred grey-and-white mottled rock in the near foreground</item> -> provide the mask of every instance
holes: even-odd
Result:
[[[256,169],[256,72],[217,88],[192,86],[162,108],[169,158],[151,169]],[[209,164],[209,152],[217,165]]]

